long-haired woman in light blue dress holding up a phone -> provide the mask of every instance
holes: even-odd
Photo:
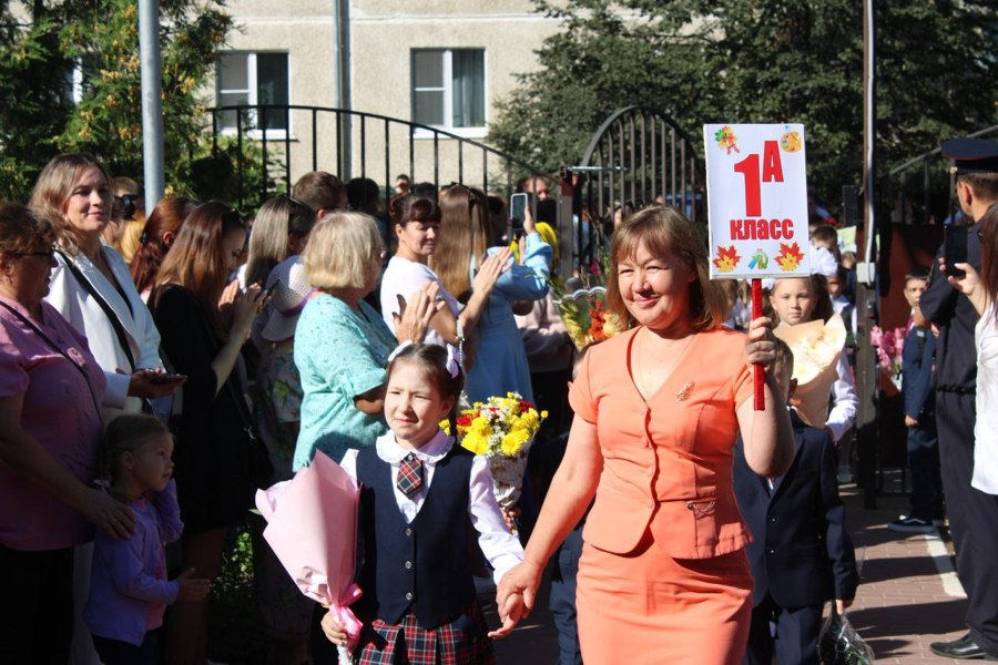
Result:
[[[475,331],[465,386],[472,402],[505,397],[510,391],[533,401],[530,367],[513,319],[513,304],[547,295],[552,249],[541,239],[529,215],[523,232],[521,260],[500,275]],[[467,301],[471,295],[477,268],[486,265],[482,259],[502,250],[499,243],[500,238],[493,237],[481,192],[456,185],[440,196],[440,239],[430,267],[459,301]]]

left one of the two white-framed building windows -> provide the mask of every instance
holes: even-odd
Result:
[[[216,68],[220,106],[286,106],[287,53],[220,53]],[[284,109],[251,110],[243,115],[244,130],[284,133],[289,130]],[[236,112],[218,114],[218,131],[236,131]]]

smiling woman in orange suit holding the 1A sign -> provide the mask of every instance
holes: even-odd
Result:
[[[704,243],[673,208],[642,211],[610,248],[610,308],[627,330],[583,358],[564,461],[499,607],[532,606],[544,563],[582,516],[577,605],[587,665],[739,663],[751,618],[750,535],[731,482],[741,430],[750,467],[777,477],[794,433],[770,370],[772,323],[721,326]],[[766,366],[763,411],[752,364]],[[503,612],[505,614],[505,612]],[[518,617],[505,616],[501,636]]]

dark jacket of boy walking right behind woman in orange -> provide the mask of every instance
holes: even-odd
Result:
[[[791,410],[796,451],[785,475],[767,481],[745,462],[735,442],[733,478],[742,516],[753,542],[748,564],[755,577],[752,604],[766,592],[781,607],[817,605],[856,595],[859,575],[853,542],[845,530],[832,439]]]

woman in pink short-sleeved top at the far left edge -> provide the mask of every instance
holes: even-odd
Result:
[[[104,374],[86,339],[42,298],[55,229],[0,204],[0,663],[65,663],[73,548],[132,512],[90,485]]]

